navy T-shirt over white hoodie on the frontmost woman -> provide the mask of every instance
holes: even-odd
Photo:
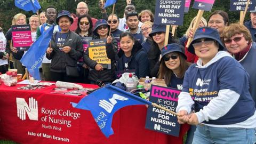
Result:
[[[199,123],[255,127],[249,75],[227,52],[219,51],[204,66],[198,60],[186,71],[177,111],[190,113],[193,105]]]

